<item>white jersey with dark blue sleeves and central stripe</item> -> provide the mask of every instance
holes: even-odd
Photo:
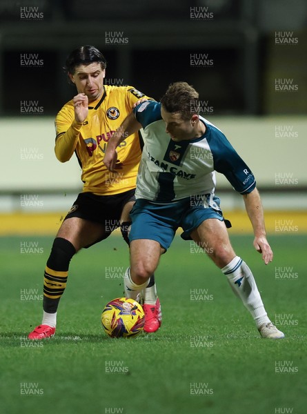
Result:
[[[137,175],[137,199],[157,204],[179,201],[191,195],[210,195],[215,201],[215,171],[221,172],[241,194],[256,186],[250,168],[239,157],[225,135],[207,119],[199,117],[206,132],[199,138],[175,142],[166,133],[161,103],[146,101],[134,109],[143,127],[143,152]]]

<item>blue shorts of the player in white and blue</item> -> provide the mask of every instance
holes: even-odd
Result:
[[[202,202],[191,203],[190,197],[168,204],[154,204],[146,199],[137,199],[130,211],[130,242],[137,239],[155,240],[167,250],[179,227],[184,229],[181,237],[188,240],[192,230],[206,219],[224,220],[219,209],[219,198],[213,197],[213,201],[216,209]]]

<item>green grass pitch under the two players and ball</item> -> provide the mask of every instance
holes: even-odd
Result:
[[[33,344],[26,335],[41,322],[52,238],[0,238],[0,412],[306,412],[306,236],[270,236],[275,259],[268,266],[251,235],[231,239],[286,339],[261,339],[226,277],[180,237],[156,273],[159,331],[110,339],[100,315],[122,296],[128,264],[128,248],[112,235],[72,259],[57,334]]]

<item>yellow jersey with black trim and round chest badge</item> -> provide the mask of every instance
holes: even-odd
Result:
[[[83,192],[114,195],[135,188],[141,159],[138,132],[117,148],[118,160],[123,165],[117,174],[108,171],[102,160],[112,133],[143,97],[150,99],[132,86],[105,85],[102,97],[89,103],[83,124],[75,121],[72,100],[57,114],[55,152],[58,159],[67,161],[75,151],[82,168]]]

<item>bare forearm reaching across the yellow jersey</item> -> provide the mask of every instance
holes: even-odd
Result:
[[[109,171],[115,172],[116,163],[117,163],[117,152],[116,148],[121,144],[121,142],[128,138],[134,132],[141,129],[141,124],[135,119],[135,115],[131,112],[123,123],[117,130],[114,132],[112,137],[108,141],[106,152],[103,157],[103,164],[108,168]],[[116,168],[118,169],[118,168]]]

